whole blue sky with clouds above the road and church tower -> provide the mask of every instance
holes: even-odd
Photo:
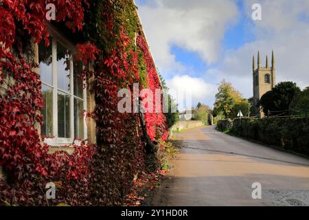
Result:
[[[168,87],[213,106],[218,83],[253,96],[252,57],[275,52],[277,83],[309,86],[308,0],[135,0],[153,58]],[[262,6],[253,21],[252,5]],[[271,63],[271,60],[268,60]],[[180,106],[182,109],[183,106]]]

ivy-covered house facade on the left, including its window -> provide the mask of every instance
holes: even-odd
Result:
[[[133,1],[5,0],[0,42],[0,203],[118,205],[168,137],[162,112],[117,111],[119,89],[161,88]]]

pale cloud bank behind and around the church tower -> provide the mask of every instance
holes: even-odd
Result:
[[[251,5],[255,2],[245,1],[248,18],[251,18]],[[301,16],[309,17],[309,1],[260,3],[262,21],[256,21],[253,30],[256,40],[238,50],[226,51],[218,67],[206,73],[207,78],[216,78],[217,81],[225,78],[246,98],[253,96],[252,56],[255,55],[257,62],[258,50],[263,66],[266,55],[271,63],[271,50],[275,51],[277,83],[291,80],[301,88],[309,85],[309,23],[301,19]]]

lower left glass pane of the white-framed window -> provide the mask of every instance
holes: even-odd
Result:
[[[42,134],[47,137],[54,136],[53,133],[53,88],[42,85],[42,96],[44,99],[44,108],[42,109],[43,125],[41,126]]]

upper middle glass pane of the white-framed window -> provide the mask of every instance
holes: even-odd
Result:
[[[57,42],[58,89],[70,91],[70,53],[67,48]]]

